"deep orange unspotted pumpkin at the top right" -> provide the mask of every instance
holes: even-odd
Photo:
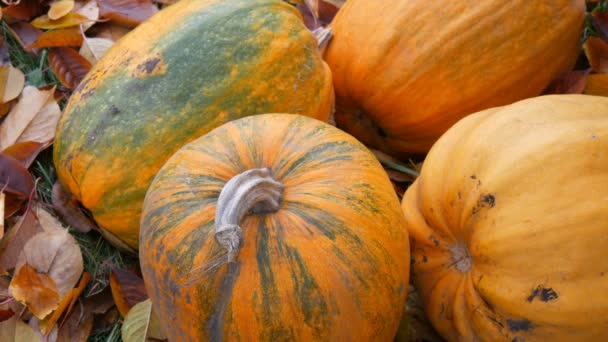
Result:
[[[573,67],[583,0],[349,0],[325,53],[338,127],[394,157],[460,118],[539,95]]]

